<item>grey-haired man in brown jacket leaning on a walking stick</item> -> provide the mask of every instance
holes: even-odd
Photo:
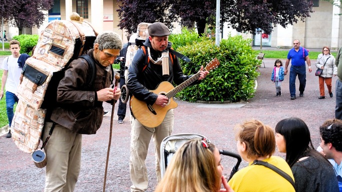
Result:
[[[103,119],[102,102],[115,102],[120,89],[110,88],[111,64],[122,48],[119,35],[98,34],[86,58],[73,60],[57,88],[57,105],[45,117],[43,141],[52,132],[46,146],[45,192],[73,192],[80,171],[82,133],[93,134]],[[89,59],[89,60],[88,60]],[[90,62],[96,75],[88,86]]]

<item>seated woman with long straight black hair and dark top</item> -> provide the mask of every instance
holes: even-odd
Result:
[[[314,150],[307,125],[299,118],[287,118],[275,126],[278,151],[286,153],[296,192],[339,192],[331,164]]]

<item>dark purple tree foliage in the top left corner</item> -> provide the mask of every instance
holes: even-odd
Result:
[[[1,0],[0,16],[13,26],[39,27],[45,19],[42,11],[47,11],[53,5],[53,0]]]

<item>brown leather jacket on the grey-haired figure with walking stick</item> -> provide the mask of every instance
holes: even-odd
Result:
[[[59,82],[57,102],[59,107],[52,109],[51,120],[80,134],[95,134],[103,119],[102,102],[97,101],[96,91],[109,87],[111,84],[111,66],[104,68],[92,55],[89,55],[96,66],[93,87],[87,87],[89,65],[82,59],[73,60],[65,71],[64,78]]]

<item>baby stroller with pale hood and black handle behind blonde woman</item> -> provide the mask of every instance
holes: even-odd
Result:
[[[165,137],[160,145],[160,173],[161,178],[164,176],[166,167],[169,162],[171,162],[173,154],[180,148],[186,141],[199,138],[202,139],[204,136],[199,134],[191,134],[191,133],[184,133],[184,134],[175,134],[168,137]],[[232,168],[230,172],[230,176],[228,181],[231,177],[237,172],[238,166],[241,163],[241,157],[236,154],[225,150],[218,150],[219,154],[230,156],[237,159],[236,165]]]

